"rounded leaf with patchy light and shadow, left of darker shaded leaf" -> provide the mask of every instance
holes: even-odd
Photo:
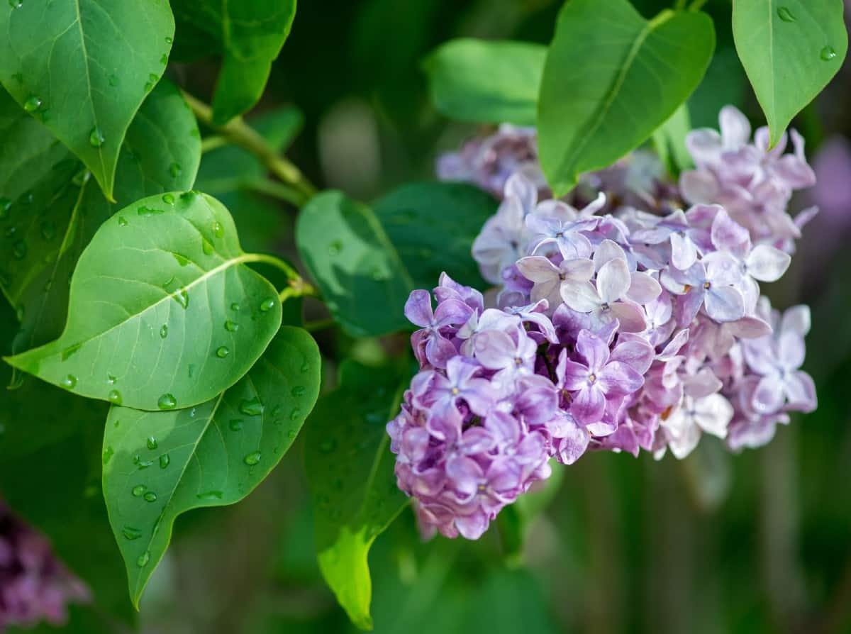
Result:
[[[346,332],[363,337],[408,328],[403,307],[414,282],[372,209],[324,191],[301,210],[295,241]]]

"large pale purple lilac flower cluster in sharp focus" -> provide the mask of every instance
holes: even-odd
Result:
[[[405,309],[421,328],[420,373],[387,430],[422,524],[475,539],[549,476],[551,458],[682,459],[703,434],[754,447],[789,412],[815,408],[800,369],[808,308],[781,316],[759,286],[790,264],[814,212],[792,219],[786,207],[813,173],[796,133],[785,154],[785,136],[768,150],[767,129],[751,143],[734,108],[720,119],[721,134],[689,134],[696,168],[678,188],[633,157],[586,175],[568,200],[541,199],[534,166],[497,152],[499,166],[523,169],[473,243],[493,307],[444,273],[433,311],[425,290]],[[589,196],[593,184],[603,191]]]

